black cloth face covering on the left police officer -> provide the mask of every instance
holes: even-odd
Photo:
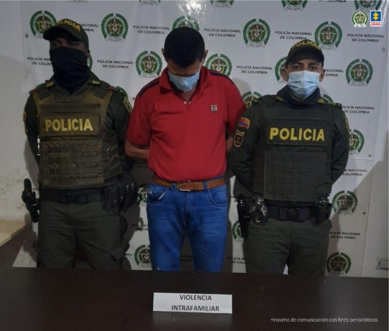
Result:
[[[50,61],[55,81],[70,93],[79,88],[90,77],[87,57],[80,49],[69,47],[50,49]]]

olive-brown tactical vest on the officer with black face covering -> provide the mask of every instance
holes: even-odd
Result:
[[[41,156],[38,182],[43,188],[100,187],[122,173],[118,141],[105,124],[112,96],[99,81],[84,93],[64,96],[48,82],[32,91]]]

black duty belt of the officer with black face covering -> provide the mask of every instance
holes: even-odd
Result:
[[[88,204],[104,200],[104,188],[89,190],[41,189],[42,201],[54,201],[59,204]]]

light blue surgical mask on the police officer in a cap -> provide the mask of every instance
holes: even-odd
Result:
[[[288,72],[288,74],[288,86],[299,99],[304,100],[308,98],[319,85],[319,72],[302,70]]]

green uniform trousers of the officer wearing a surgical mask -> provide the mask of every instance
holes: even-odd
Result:
[[[316,224],[269,218],[264,224],[249,223],[247,272],[324,275],[328,250],[329,219]]]

